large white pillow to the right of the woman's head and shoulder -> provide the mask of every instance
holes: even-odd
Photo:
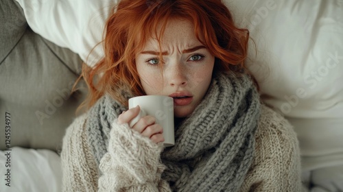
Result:
[[[343,1],[226,0],[263,101],[294,125],[303,169],[343,165]]]

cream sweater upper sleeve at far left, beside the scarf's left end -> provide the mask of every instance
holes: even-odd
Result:
[[[99,171],[84,132],[85,121],[85,115],[75,119],[63,138],[62,191],[97,191]]]

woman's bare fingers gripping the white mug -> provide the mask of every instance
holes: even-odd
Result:
[[[139,110],[141,110],[141,108],[137,106],[135,108],[124,111],[123,113],[121,113],[121,115],[119,115],[118,123],[129,123],[132,119],[134,119],[134,117],[139,114]],[[161,125],[155,124],[155,121],[155,117],[151,115],[141,117],[141,119],[139,119],[139,121],[137,121],[137,123],[132,126],[132,129],[136,130],[143,136],[147,136],[154,143],[163,142],[165,141],[165,138],[163,137],[163,128],[161,127]]]

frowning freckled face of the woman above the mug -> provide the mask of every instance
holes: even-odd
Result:
[[[147,95],[173,97],[175,117],[187,117],[209,88],[215,58],[196,38],[193,24],[187,20],[169,21],[161,43],[163,60],[158,59],[160,49],[155,38],[150,38],[136,56],[141,84]]]

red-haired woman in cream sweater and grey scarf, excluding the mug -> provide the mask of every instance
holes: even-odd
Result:
[[[220,0],[123,0],[104,45],[84,71],[89,109],[64,136],[64,191],[300,191],[296,135],[260,103],[248,31]],[[155,117],[128,125],[139,95],[174,97],[173,147]]]

